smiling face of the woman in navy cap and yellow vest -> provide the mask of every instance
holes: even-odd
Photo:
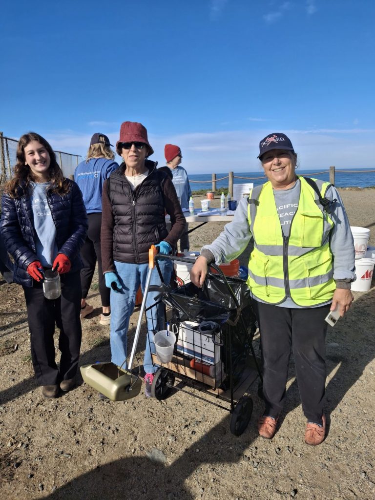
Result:
[[[270,149],[261,157],[264,173],[274,189],[287,189],[295,182],[297,155],[284,149]]]

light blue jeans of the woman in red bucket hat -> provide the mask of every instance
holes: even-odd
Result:
[[[171,260],[159,260],[159,267],[163,280],[169,283],[172,272]],[[129,319],[134,310],[135,294],[139,288],[139,284],[144,293],[144,286],[148,272],[148,263],[144,264],[127,264],[124,262],[114,261],[118,279],[122,285],[122,291],[116,292],[110,290],[110,351],[112,363],[120,366],[127,356],[127,329],[129,327]],[[150,285],[159,285],[161,283],[156,267],[153,268],[151,274]],[[155,303],[155,296],[159,292],[150,291],[147,293],[146,307]],[[151,316],[152,314],[152,316]],[[147,336],[146,348],[144,352],[143,367],[146,373],[154,373],[157,366],[152,364],[151,348],[154,352],[153,329],[162,329],[164,327],[164,315],[162,304],[152,307],[147,311]],[[156,331],[157,331],[156,329]],[[126,364],[123,365],[126,367]]]

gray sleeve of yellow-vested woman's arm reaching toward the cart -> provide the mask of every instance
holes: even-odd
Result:
[[[210,244],[204,245],[215,257],[215,263],[230,262],[238,257],[249,243],[252,235],[248,225],[247,198],[242,198],[234,212],[233,221],[224,226],[217,238]]]

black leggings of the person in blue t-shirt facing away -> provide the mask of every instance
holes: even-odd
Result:
[[[95,271],[97,260],[97,270],[99,274],[99,293],[101,305],[109,306],[110,289],[105,286],[103,270],[101,268],[101,249],[100,249],[100,226],[101,213],[89,213],[87,237],[80,251],[83,261],[83,268],[80,271],[80,282],[82,286],[82,298],[87,297],[91,285],[92,276]]]

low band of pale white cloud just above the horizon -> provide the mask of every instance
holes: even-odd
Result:
[[[273,128],[273,126],[272,126]],[[277,127],[279,128],[279,127]],[[113,130],[113,129],[112,129]],[[207,133],[153,134],[148,133],[155,153],[150,157],[165,164],[164,145],[178,144],[182,150],[182,166],[188,173],[221,173],[254,171],[260,175],[256,156],[259,140],[265,137],[270,127],[261,125],[255,130],[226,130]],[[365,128],[314,128],[282,130],[290,137],[299,156],[302,169],[322,169],[329,165],[337,168],[372,167],[368,144],[372,143],[375,129]],[[72,130],[43,134],[55,150],[74,154],[86,154],[90,134]],[[118,138],[118,128],[108,132],[112,144]],[[118,158],[117,158],[118,159]],[[198,185],[198,184],[197,184]]]

